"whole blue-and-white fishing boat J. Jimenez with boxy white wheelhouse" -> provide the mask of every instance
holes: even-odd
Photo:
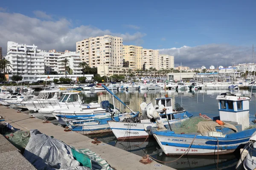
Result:
[[[166,155],[215,155],[233,153],[256,131],[250,126],[250,97],[224,93],[216,97],[219,116],[199,122],[193,133],[178,134],[169,128],[151,131]],[[216,121],[216,122],[215,122]]]

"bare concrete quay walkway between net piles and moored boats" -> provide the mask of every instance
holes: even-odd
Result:
[[[43,123],[41,119],[33,118],[26,113],[17,113],[16,110],[0,106],[0,116],[4,116],[6,122],[21,130],[38,129],[41,133],[54,136],[66,144],[78,149],[88,148],[105,159],[112,168],[116,170],[175,170],[166,165],[153,161],[151,164],[142,164],[139,161],[141,156],[129,153],[125,150],[113,147],[101,142],[100,144],[91,143],[93,139],[79,133],[70,131],[65,132],[61,126],[52,123]],[[1,149],[0,149],[1,152]],[[22,166],[22,165],[20,165]],[[25,168],[26,169],[26,168]]]

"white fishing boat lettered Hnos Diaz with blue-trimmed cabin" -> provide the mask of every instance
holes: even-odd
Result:
[[[151,102],[148,104],[144,102],[140,105],[145,118],[140,122],[108,122],[116,138],[118,140],[146,138],[148,135],[152,135],[151,127],[157,127],[157,121],[162,121],[163,125],[168,125],[183,122],[193,116],[183,108],[180,110],[173,109],[171,97],[156,99],[156,103],[155,106]],[[166,109],[166,113],[163,111],[164,109]],[[157,111],[157,121],[152,116],[155,111]]]

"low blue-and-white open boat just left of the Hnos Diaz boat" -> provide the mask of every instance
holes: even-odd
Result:
[[[71,130],[80,132],[84,135],[96,134],[96,133],[107,133],[111,132],[108,125],[108,121],[114,120],[119,122],[122,119],[136,117],[139,112],[136,113],[120,113],[120,114],[100,114],[95,115],[92,119],[87,119],[83,121],[72,121],[69,122],[68,126]]]

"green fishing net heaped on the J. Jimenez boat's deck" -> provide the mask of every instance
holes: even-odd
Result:
[[[181,122],[180,126],[174,125],[174,127],[172,127],[172,131],[174,131],[177,134],[193,133],[193,132],[195,133],[198,131],[197,124],[202,121],[208,121],[208,120],[203,119],[201,117],[193,117],[193,118],[190,118],[190,119],[187,119],[187,120]]]

